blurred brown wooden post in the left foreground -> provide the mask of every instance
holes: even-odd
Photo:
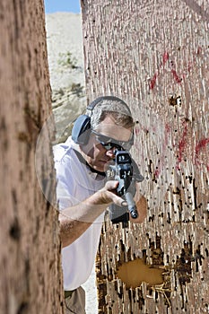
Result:
[[[57,211],[35,168],[36,156],[47,187],[53,129],[36,153],[51,114],[43,1],[2,0],[0,21],[0,313],[63,313]]]

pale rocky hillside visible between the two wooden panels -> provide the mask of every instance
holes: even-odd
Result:
[[[56,138],[63,142],[86,107],[81,14],[47,14],[46,29]]]

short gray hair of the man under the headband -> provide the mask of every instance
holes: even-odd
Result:
[[[119,100],[100,100],[91,113],[91,128],[96,130],[100,122],[108,116],[112,116],[118,126],[129,128],[135,125],[130,109],[126,108],[123,102]]]

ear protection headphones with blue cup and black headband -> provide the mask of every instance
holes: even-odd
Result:
[[[74,126],[72,129],[72,139],[74,140],[74,143],[76,144],[87,144],[89,141],[89,136],[91,132],[91,114],[95,106],[100,103],[101,100],[118,100],[121,102],[126,109],[128,110],[130,116],[131,116],[131,111],[126,105],[126,102],[124,100],[119,99],[118,97],[115,96],[102,96],[97,98],[96,100],[93,100],[88,106],[87,106],[87,111],[90,111],[90,115],[85,114],[79,116],[75,121],[74,121]],[[130,140],[132,144],[134,144],[134,133],[132,135],[132,138]]]

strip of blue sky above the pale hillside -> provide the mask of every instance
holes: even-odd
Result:
[[[45,12],[81,13],[80,0],[44,0]]]

